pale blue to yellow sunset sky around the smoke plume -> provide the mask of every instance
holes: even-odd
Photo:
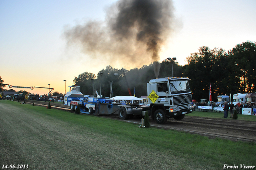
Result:
[[[0,0],[0,77],[4,83],[26,87],[50,84],[53,92],[64,94],[64,80],[68,91],[74,77],[83,72],[98,74],[108,65],[131,69],[128,62],[111,62],[107,54],[87,53],[81,44],[67,45],[65,37],[69,28],[89,21],[104,23],[116,2]],[[242,42],[256,41],[255,0],[172,0],[172,3],[175,24],[161,46],[159,62],[176,57],[176,62],[184,65],[186,57],[198,52],[201,46],[228,52]],[[143,60],[136,66],[140,68],[150,62]],[[13,89],[48,94],[44,88]]]

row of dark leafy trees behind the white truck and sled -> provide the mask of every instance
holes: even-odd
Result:
[[[256,42],[246,41],[237,44],[226,52],[222,48],[210,49],[208,46],[198,48],[186,58],[188,64],[181,66],[175,60],[160,62],[159,78],[172,75],[190,78],[190,89],[193,99],[209,99],[211,83],[212,100],[217,101],[219,95],[256,92]],[[74,78],[73,84],[80,86],[85,95],[102,96],[147,96],[146,84],[154,79],[154,65],[144,65],[131,70],[115,69],[107,66],[97,75],[84,72]],[[111,90],[112,84],[112,90]],[[101,88],[100,88],[101,86]],[[0,86],[1,87],[1,86]]]

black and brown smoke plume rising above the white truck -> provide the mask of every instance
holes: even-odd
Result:
[[[160,69],[161,46],[173,31],[171,0],[119,0],[106,12],[106,20],[87,21],[66,28],[68,45],[78,44],[91,59],[107,60],[124,68],[155,62]]]

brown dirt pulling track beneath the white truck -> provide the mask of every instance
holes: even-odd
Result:
[[[26,101],[26,103],[32,104],[32,101]],[[48,106],[48,102],[34,101],[34,103],[36,105],[44,105],[44,107]],[[57,109],[70,110],[69,106],[65,106],[60,102],[51,102],[50,104]],[[116,115],[104,117],[119,119]],[[134,117],[129,120],[122,121],[140,124],[141,118]],[[256,142],[256,122],[254,121],[233,120],[231,118],[203,118],[186,115],[182,120],[174,120],[171,118],[164,125],[157,124],[150,118],[150,125],[158,128],[174,129],[192,134],[200,134],[208,136],[209,138],[218,137],[233,141],[243,140]]]

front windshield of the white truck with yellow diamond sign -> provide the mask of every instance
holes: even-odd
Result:
[[[190,92],[188,80],[170,80],[170,90],[172,94]]]

